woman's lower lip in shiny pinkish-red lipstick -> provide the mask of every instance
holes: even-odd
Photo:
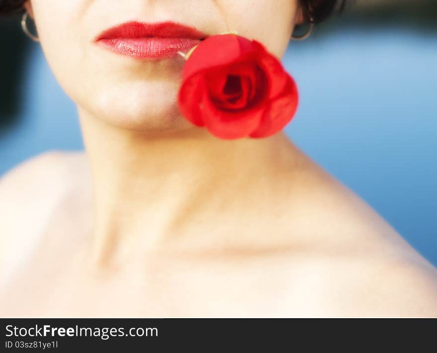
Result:
[[[97,44],[116,53],[137,59],[165,58],[186,53],[200,43],[190,38],[111,38],[100,39]]]

